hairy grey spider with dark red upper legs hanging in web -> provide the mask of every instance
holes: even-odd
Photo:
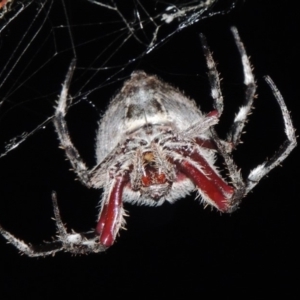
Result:
[[[165,201],[175,202],[194,190],[205,204],[223,213],[235,211],[261,178],[290,154],[296,146],[296,137],[285,102],[266,76],[282,112],[287,140],[269,161],[258,165],[243,180],[231,153],[240,142],[256,84],[238,31],[235,27],[231,30],[242,60],[246,95],[226,140],[221,140],[214,129],[222,115],[223,97],[215,62],[201,34],[214,110],[204,114],[194,101],[156,76],[133,72],[100,122],[97,165],[92,169],[87,168],[73,145],[65,120],[71,104],[68,88],[75,68],[73,61],[55,109],[54,126],[79,180],[88,188],[104,189],[96,228],[86,233],[68,233],[53,192],[56,240],[36,247],[0,227],[8,242],[28,256],[53,255],[62,250],[73,254],[105,251],[125,225],[123,201],[155,206]],[[216,154],[223,157],[230,184],[215,166]]]

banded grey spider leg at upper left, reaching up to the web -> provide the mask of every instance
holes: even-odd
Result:
[[[72,75],[74,73],[76,61],[73,60],[69,67],[65,82],[62,87],[62,91],[60,93],[60,97],[58,99],[58,103],[55,109],[55,115],[53,119],[53,123],[55,129],[58,133],[59,141],[61,143],[61,147],[65,150],[67,158],[69,159],[74,171],[78,175],[80,181],[88,187],[91,187],[89,170],[87,169],[85,163],[81,159],[77,149],[73,145],[68,126],[65,120],[65,116],[68,110],[68,102],[70,99],[68,98],[68,89],[71,83]]]

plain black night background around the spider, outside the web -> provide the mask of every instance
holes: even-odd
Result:
[[[80,8],[66,3],[72,20]],[[92,18],[93,12],[82,13],[85,18]],[[300,125],[298,15],[293,1],[240,1],[230,14],[208,18],[175,34],[150,55],[131,64],[118,78],[125,78],[132,69],[157,74],[194,98],[204,111],[210,111],[205,60],[198,38],[198,33],[203,32],[223,78],[225,112],[217,130],[224,136],[244,92],[239,55],[230,33],[230,26],[235,25],[251,56],[259,96],[243,136],[244,143],[234,153],[246,176],[272,156],[285,139],[280,111],[264,75],[273,78],[295,127]],[[22,29],[23,23],[16,24]],[[8,36],[13,39],[12,32],[5,37],[6,42]],[[97,32],[88,34],[96,36]],[[79,65],[88,65],[84,59],[94,55],[95,44],[90,51],[78,51]],[[1,59],[8,59],[8,53],[11,51],[1,54]],[[53,69],[38,78],[37,86],[48,95],[45,102],[30,101],[31,94],[21,90],[15,96],[21,99],[19,105],[2,108],[1,143],[22,130],[33,129],[52,114],[71,51],[61,57],[59,72]],[[102,76],[105,77],[105,71]],[[89,96],[97,108],[82,101],[68,119],[74,143],[89,166],[94,163],[99,112],[104,111],[122,85],[122,80],[108,86],[101,80],[103,87]],[[75,83],[71,93],[72,89],[76,93],[78,86]],[[88,190],[74,181],[75,175],[68,171],[69,163],[58,149],[51,124],[2,158],[0,164],[0,222],[17,237],[38,244],[54,236],[52,190],[58,194],[68,228],[87,231],[94,226],[101,191]],[[232,215],[203,209],[195,194],[157,208],[125,204],[130,215],[126,218],[127,231],[121,230],[115,245],[105,253],[28,258],[0,238],[1,299],[24,295],[32,299],[59,295],[211,299],[217,294],[225,299],[269,299],[279,293],[283,299],[298,299],[299,150],[295,149],[282,165],[264,178]]]

